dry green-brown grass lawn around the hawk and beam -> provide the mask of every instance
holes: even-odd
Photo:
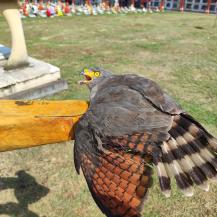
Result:
[[[154,79],[217,137],[217,24],[214,15],[164,13],[25,19],[29,54],[61,68],[69,90],[51,99],[87,99],[83,67]],[[10,46],[0,17],[0,42]],[[15,138],[16,139],[16,138]],[[73,142],[1,153],[0,216],[103,217],[73,165]],[[17,173],[18,171],[21,171]],[[2,184],[3,183],[3,184]],[[216,216],[217,184],[166,199],[154,176],[143,217]],[[8,213],[8,215],[6,215]]]

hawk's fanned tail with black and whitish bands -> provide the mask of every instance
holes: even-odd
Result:
[[[165,196],[171,177],[186,196],[193,195],[194,184],[208,191],[208,180],[217,181],[217,140],[188,114],[174,116],[169,134],[161,144],[162,156],[154,160]]]

